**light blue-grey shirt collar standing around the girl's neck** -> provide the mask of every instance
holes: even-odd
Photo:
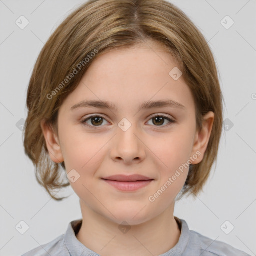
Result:
[[[159,255],[159,256],[178,256],[182,255],[185,251],[188,241],[189,241],[189,228],[184,219],[175,217],[179,228],[181,228],[181,233],[177,244],[171,248],[169,251]],[[65,244],[70,253],[70,256],[99,256],[99,254],[87,248],[82,244],[75,236],[80,230],[82,224],[82,219],[73,220],[68,224],[66,233],[65,233]]]

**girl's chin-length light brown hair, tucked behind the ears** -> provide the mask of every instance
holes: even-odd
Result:
[[[150,42],[162,45],[179,64],[195,100],[197,129],[205,113],[215,114],[204,157],[190,165],[181,195],[202,190],[222,131],[222,93],[206,40],[184,12],[165,0],[89,0],[69,14],[45,43],[27,90],[25,153],[36,166],[37,181],[53,199],[66,198],[54,196],[53,191],[70,183],[61,178],[64,162],[55,163],[49,157],[40,121],[45,119],[58,134],[58,109],[93,60],[107,50]]]

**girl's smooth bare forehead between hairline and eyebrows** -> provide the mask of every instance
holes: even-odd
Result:
[[[92,59],[65,103],[72,107],[82,100],[102,100],[118,109],[130,109],[149,100],[171,99],[191,108],[192,93],[182,76],[174,80],[169,74],[177,66],[172,55],[158,45],[107,51]]]

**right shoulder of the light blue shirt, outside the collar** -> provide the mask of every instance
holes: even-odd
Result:
[[[188,247],[197,247],[203,256],[250,256],[225,242],[213,240],[193,230],[189,230]]]

